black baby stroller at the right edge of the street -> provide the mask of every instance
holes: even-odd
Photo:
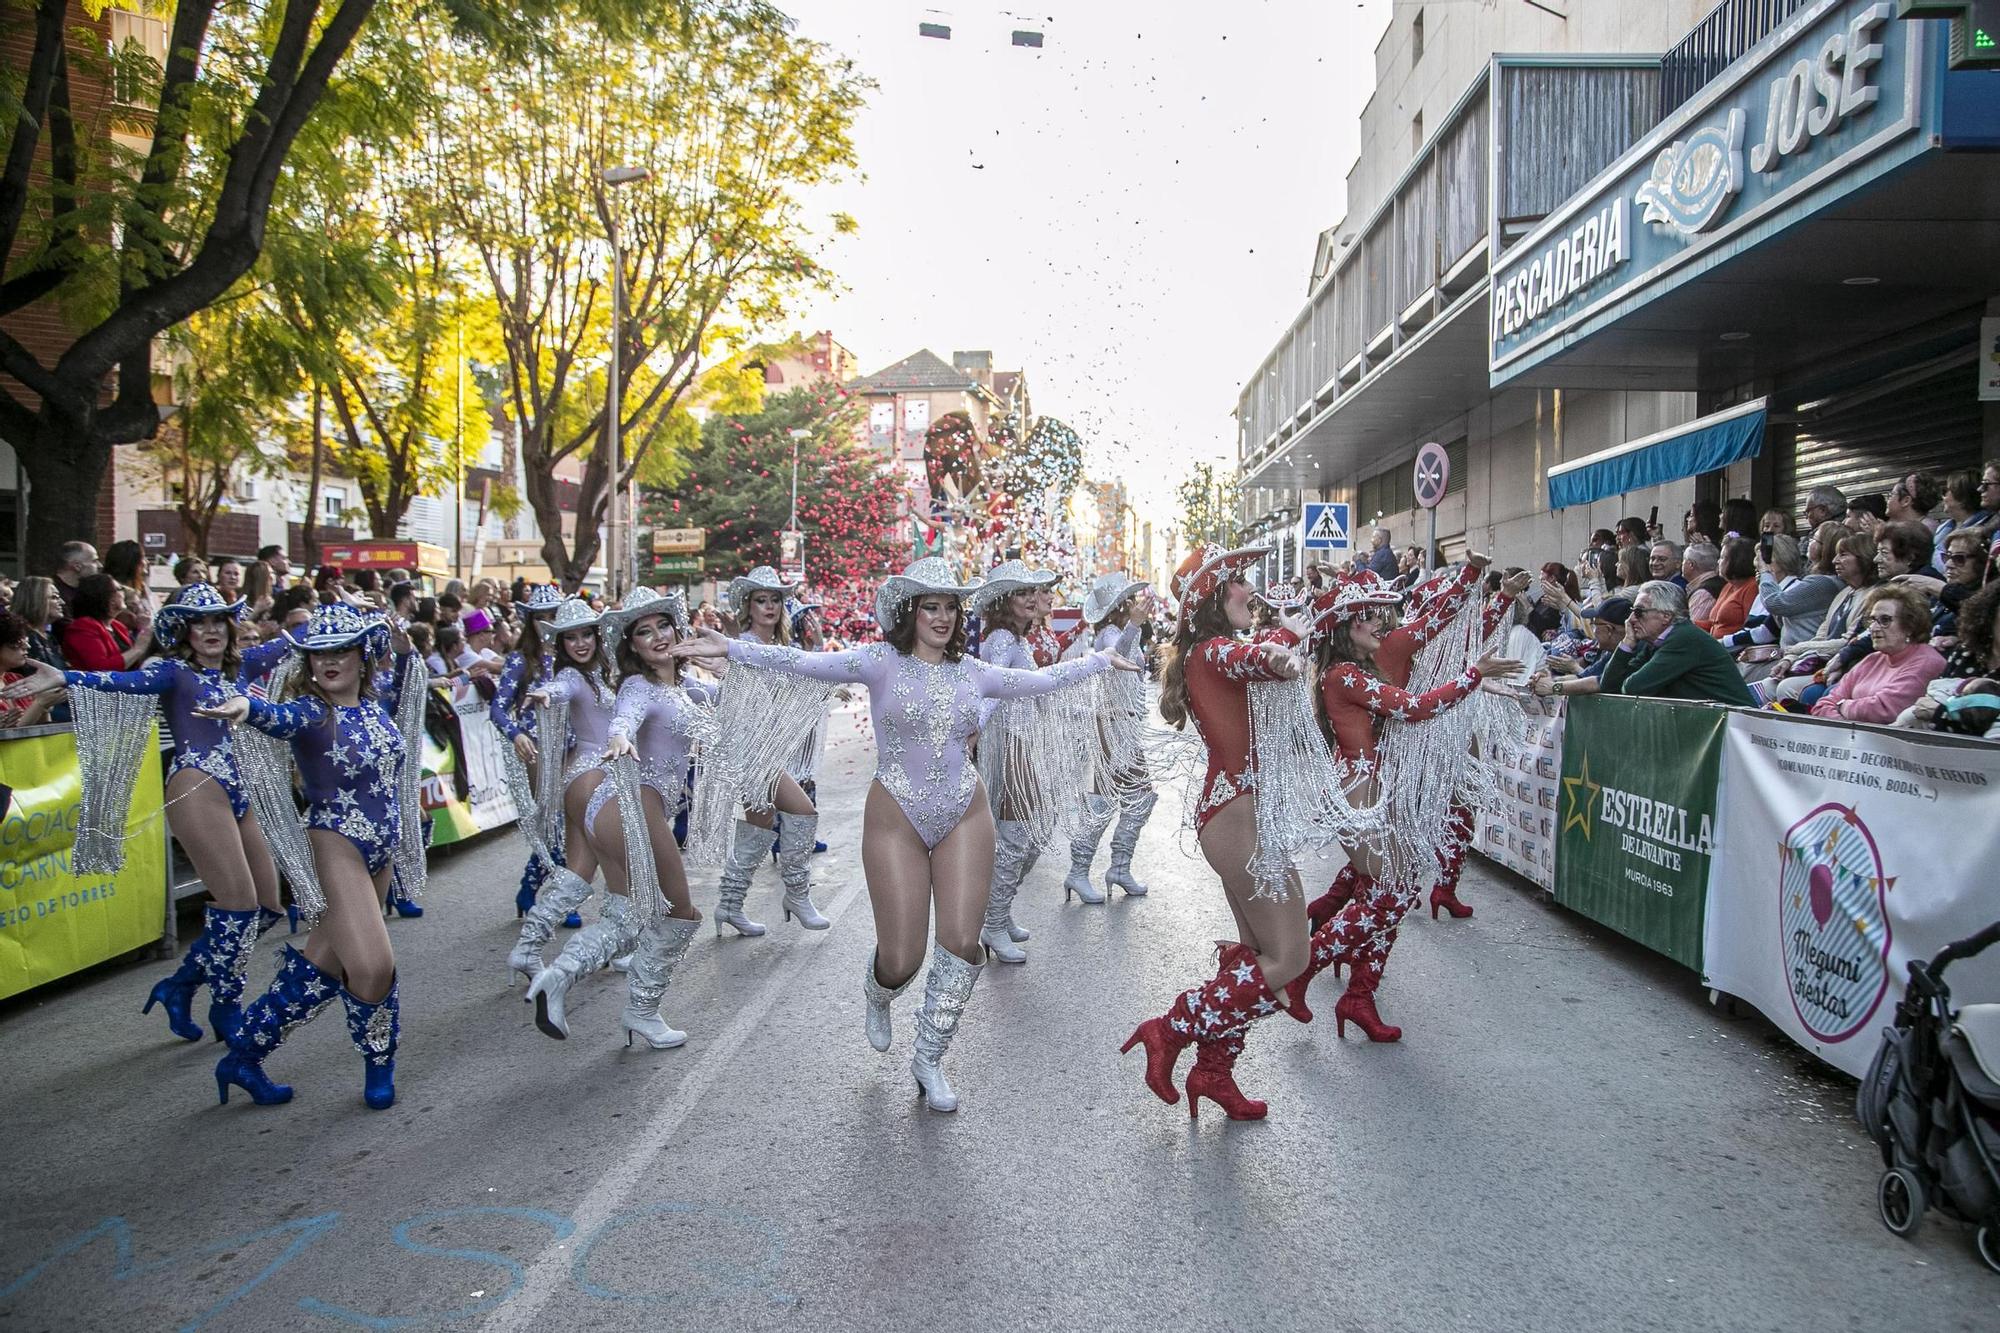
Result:
[[[2000,1005],[1952,1011],[1944,969],[2000,941],[2000,921],[1910,963],[1910,985],[1884,1029],[1854,1115],[1882,1147],[1882,1225],[1908,1237],[1924,1209],[1978,1227],[1974,1243],[2000,1273]]]

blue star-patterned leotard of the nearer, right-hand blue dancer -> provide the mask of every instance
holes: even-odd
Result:
[[[318,695],[286,703],[250,699],[248,723],[292,743],[300,787],[306,793],[306,827],[338,833],[362,855],[370,875],[388,865],[402,829],[396,779],[404,739],[396,731],[396,705],[410,683],[414,654],[396,658],[394,689],[386,701],[328,709]],[[328,725],[332,715],[332,725]]]

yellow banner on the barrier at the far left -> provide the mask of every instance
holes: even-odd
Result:
[[[0,783],[14,789],[0,819],[0,997],[160,939],[166,827],[158,731],[132,787],[126,863],[116,875],[70,873],[82,801],[72,733],[0,741]]]

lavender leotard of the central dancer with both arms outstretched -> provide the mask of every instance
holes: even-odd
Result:
[[[972,807],[980,775],[966,759],[966,743],[978,735],[982,701],[1048,695],[1110,671],[1110,658],[1096,652],[1048,671],[1010,671],[970,656],[932,666],[886,642],[800,652],[734,640],[730,660],[810,681],[866,685],[876,729],[876,781],[930,849]]]

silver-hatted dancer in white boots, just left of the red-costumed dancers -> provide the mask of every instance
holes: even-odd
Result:
[[[1090,626],[1092,646],[1112,650],[1128,660],[1140,660],[1140,630],[1152,618],[1152,588],[1124,572],[1098,574],[1084,594],[1084,624]],[[1146,885],[1132,875],[1132,855],[1138,851],[1138,835],[1152,815],[1160,797],[1152,791],[1152,777],[1146,761],[1138,755],[1138,735],[1146,723],[1146,681],[1140,677],[1120,677],[1106,687],[1106,709],[1100,719],[1104,731],[1106,757],[1118,755],[1118,765],[1108,775],[1110,793],[1086,793],[1084,833],[1070,843],[1070,873],[1062,881],[1062,901],[1074,893],[1084,903],[1104,903],[1112,889],[1124,889],[1126,897],[1146,897]],[[1118,831],[1112,833],[1112,865],[1104,873],[1104,889],[1090,883],[1090,863],[1098,855],[1098,843],[1112,825],[1116,811]]]

